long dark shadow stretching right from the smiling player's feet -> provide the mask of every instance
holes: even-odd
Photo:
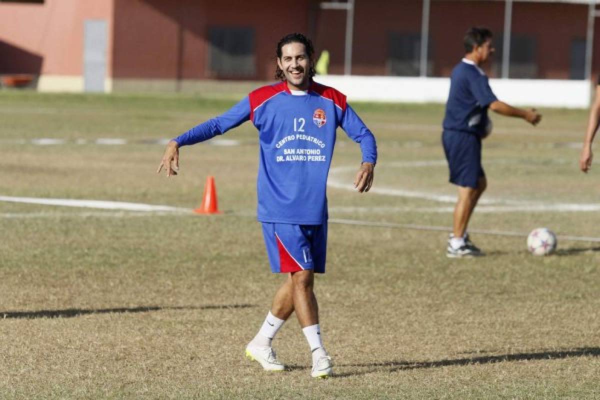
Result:
[[[411,361],[387,361],[387,362],[376,362],[376,363],[364,363],[364,364],[340,364],[339,367],[358,367],[367,368],[367,371],[356,371],[347,372],[343,374],[335,374],[334,377],[353,377],[357,375],[366,375],[372,372],[383,371],[383,372],[397,372],[410,369],[421,369],[421,368],[440,368],[443,366],[465,366],[465,365],[481,365],[481,364],[493,364],[497,362],[507,361],[531,361],[531,360],[556,360],[566,359],[569,357],[584,357],[584,356],[600,356],[600,347],[580,347],[573,348],[571,350],[557,350],[557,351],[539,351],[538,353],[517,353],[517,354],[502,354],[500,356],[481,356],[481,357],[469,357],[462,359],[449,359],[439,361],[426,361],[426,362],[411,362]],[[292,369],[301,369],[305,367],[294,367]]]

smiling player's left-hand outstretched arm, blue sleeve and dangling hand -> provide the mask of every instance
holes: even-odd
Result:
[[[250,101],[248,101],[248,97],[245,97],[223,115],[196,125],[196,127],[191,128],[186,133],[179,135],[167,143],[167,148],[164,151],[163,159],[158,165],[157,173],[160,173],[164,168],[167,176],[177,175],[177,171],[179,170],[179,148],[181,146],[194,145],[217,135],[224,134],[230,129],[248,121],[249,118]]]

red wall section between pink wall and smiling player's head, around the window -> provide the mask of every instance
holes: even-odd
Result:
[[[270,0],[115,0],[113,77],[212,78],[207,70],[209,26],[253,27],[256,71],[250,79],[273,79],[275,47],[283,35],[306,32],[311,2],[281,7]]]

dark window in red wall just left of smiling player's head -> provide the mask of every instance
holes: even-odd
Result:
[[[217,77],[256,76],[254,29],[213,26],[208,29],[209,65]]]

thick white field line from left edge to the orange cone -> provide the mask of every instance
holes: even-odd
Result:
[[[105,210],[128,210],[128,211],[164,211],[164,212],[191,212],[191,209],[155,206],[143,203],[127,203],[124,201],[101,201],[101,200],[76,200],[76,199],[40,199],[37,197],[9,197],[0,196],[0,201],[10,203],[28,203],[44,204],[46,206],[64,206],[64,207],[86,207]]]

